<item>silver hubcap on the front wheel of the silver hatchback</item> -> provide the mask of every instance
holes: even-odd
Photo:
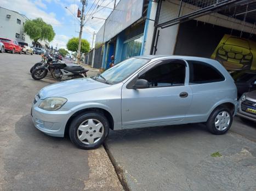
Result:
[[[82,122],[77,129],[78,139],[86,145],[100,141],[104,134],[103,124],[99,120],[89,119]]]

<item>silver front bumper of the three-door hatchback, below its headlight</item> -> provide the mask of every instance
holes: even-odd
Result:
[[[41,132],[50,135],[64,137],[67,120],[73,111],[46,111],[32,105],[31,116],[35,127]]]

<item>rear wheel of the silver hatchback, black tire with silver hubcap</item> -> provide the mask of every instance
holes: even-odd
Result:
[[[233,115],[230,110],[220,106],[209,116],[206,127],[212,134],[222,135],[230,129],[232,121]]]

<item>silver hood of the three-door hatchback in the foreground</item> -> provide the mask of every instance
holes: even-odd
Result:
[[[45,99],[49,97],[62,97],[72,93],[83,92],[107,86],[111,85],[95,81],[90,78],[80,78],[45,86],[39,91],[38,94],[40,99]]]

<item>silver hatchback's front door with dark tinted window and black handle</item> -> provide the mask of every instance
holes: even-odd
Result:
[[[164,59],[140,71],[122,87],[122,127],[150,127],[181,123],[190,107],[189,67],[179,59]],[[137,79],[150,87],[133,89]]]

